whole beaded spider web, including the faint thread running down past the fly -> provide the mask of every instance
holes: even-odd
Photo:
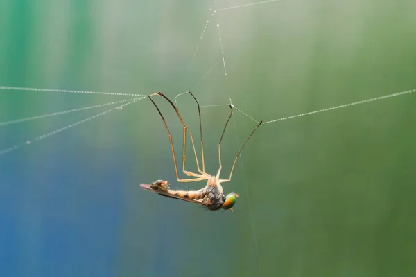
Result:
[[[221,2],[221,3],[218,1],[212,1],[211,3],[209,3],[209,6],[207,7],[208,19],[205,21],[205,24],[203,24],[202,26],[202,30],[200,31],[200,36],[197,39],[198,42],[196,44],[196,47],[192,49],[193,51],[189,53],[194,63],[204,64],[205,71],[202,74],[198,75],[198,77],[195,77],[193,75],[189,77],[189,79],[191,79],[190,81],[191,85],[189,85],[189,90],[193,91],[194,88],[200,87],[200,84],[204,82],[206,78],[209,78],[210,75],[213,75],[213,73],[217,74],[214,80],[218,80],[216,78],[219,78],[220,75],[218,73],[219,71],[221,71],[221,76],[225,80],[225,88],[223,88],[223,93],[224,91],[226,91],[225,96],[227,96],[228,101],[219,102],[219,103],[218,102],[214,102],[214,103],[202,102],[201,103],[202,108],[214,109],[215,107],[223,107],[223,106],[232,105],[232,107],[234,107],[234,110],[236,112],[238,112],[239,114],[241,114],[247,119],[247,123],[251,121],[254,121],[255,123],[259,123],[260,118],[257,118],[258,115],[253,116],[251,112],[248,112],[245,110],[245,107],[240,107],[239,105],[236,105],[234,103],[234,102],[237,102],[236,98],[238,99],[238,96],[240,96],[240,94],[236,93],[236,89],[232,87],[232,85],[235,82],[230,82],[229,80],[229,78],[231,78],[230,75],[233,75],[233,71],[229,70],[229,64],[232,64],[232,62],[229,62],[228,60],[228,53],[237,51],[237,49],[228,48],[229,51],[227,51],[227,38],[229,38],[229,36],[224,36],[222,30],[223,30],[223,26],[227,26],[227,23],[229,23],[229,21],[223,20],[223,19],[229,16],[227,15],[227,12],[233,12],[233,16],[237,17],[239,15],[239,12],[244,12],[245,15],[247,15],[247,12],[254,12],[254,9],[260,6],[267,6],[268,10],[277,10],[279,8],[280,2],[281,1],[278,1],[278,0],[270,0],[270,1],[259,1],[259,2],[254,2],[254,3],[240,3],[240,4],[238,3],[233,4],[233,2],[231,1]],[[261,14],[260,15],[257,14],[257,15],[261,16]],[[207,37],[207,33],[209,32],[211,32],[211,36]],[[212,33],[216,34],[216,39],[214,39],[214,36],[212,35]],[[218,44],[218,48],[211,47],[210,45],[206,47],[208,48],[208,51],[211,53],[211,55],[218,57],[218,59],[214,60],[214,62],[212,60],[207,62],[207,60],[204,59],[204,55],[206,54],[206,52],[202,52],[202,51],[204,51],[203,49],[204,49],[204,46],[207,45],[207,41],[210,44],[214,44],[214,43]],[[202,61],[198,59],[201,59]],[[207,64],[209,65],[206,66]],[[232,78],[243,78],[243,77],[234,75]],[[254,78],[254,77],[250,76],[250,78]],[[194,82],[195,80],[198,80],[198,81]],[[210,84],[212,84],[212,82]],[[10,152],[13,152],[15,150],[20,150],[21,148],[27,147],[29,145],[34,145],[33,143],[37,141],[42,141],[44,139],[51,139],[51,136],[54,136],[55,134],[59,134],[64,131],[68,132],[68,130],[73,127],[79,127],[79,125],[87,123],[91,120],[97,120],[97,118],[101,118],[101,116],[109,116],[109,114],[114,114],[114,111],[121,111],[127,108],[131,108],[133,107],[132,104],[141,102],[141,100],[144,100],[147,97],[146,96],[147,93],[140,94],[140,93],[134,93],[130,91],[125,91],[125,92],[121,92],[121,91],[114,91],[114,92],[111,92],[111,91],[78,91],[78,90],[69,90],[69,89],[10,87],[8,85],[0,86],[0,90],[6,91],[8,93],[12,93],[13,91],[25,91],[25,93],[57,93],[57,94],[64,94],[64,95],[81,95],[82,94],[86,96],[100,96],[100,97],[111,96],[117,99],[120,99],[123,97],[123,99],[121,100],[107,101],[107,102],[103,102],[103,103],[96,104],[96,105],[86,105],[85,107],[76,107],[72,109],[66,109],[63,111],[53,111],[53,112],[49,112],[46,114],[37,114],[37,115],[27,116],[24,118],[2,120],[0,122],[0,127],[6,126],[6,125],[15,125],[18,123],[24,123],[24,122],[28,122],[32,120],[39,120],[42,118],[60,116],[63,114],[73,114],[73,113],[78,113],[80,111],[89,111],[89,110],[94,110],[94,109],[105,108],[104,110],[101,109],[99,112],[97,112],[96,114],[93,114],[92,116],[87,116],[85,118],[76,120],[67,125],[58,127],[56,129],[51,129],[49,132],[39,134],[38,136],[33,136],[33,137],[28,137],[28,138],[25,137],[24,139],[22,139],[21,142],[14,143],[12,145],[0,145],[0,156],[9,154]],[[415,92],[416,92],[416,89],[414,88],[408,88],[403,91],[385,91],[385,93],[380,93],[379,95],[371,97],[371,98],[358,97],[352,101],[340,102],[340,103],[337,103],[336,105],[331,105],[329,107],[322,107],[322,109],[315,109],[315,110],[306,109],[305,111],[302,111],[300,114],[286,114],[285,116],[282,116],[282,117],[261,118],[264,120],[263,125],[266,125],[261,128],[275,126],[275,124],[284,120],[295,119],[295,118],[299,118],[303,116],[313,116],[315,114],[320,114],[320,113],[327,112],[327,111],[328,112],[335,111],[338,109],[344,109],[344,108],[348,108],[348,107],[352,107],[356,105],[364,105],[364,104],[367,105],[367,104],[370,104],[370,102],[375,102],[375,101],[381,101],[381,100],[387,101],[388,99],[391,99],[391,98],[397,98],[399,96],[406,96],[409,94],[413,94]],[[173,94],[172,98],[175,100],[175,102],[177,103],[179,102],[179,105],[180,105],[180,100],[182,96],[186,96],[186,95],[187,95],[186,91],[180,92],[180,93]],[[125,99],[125,98],[128,98],[128,99]],[[218,97],[215,97],[214,99],[218,99]],[[235,101],[233,102],[233,100]],[[233,117],[232,120],[233,120],[233,125],[234,125],[234,130],[235,130],[236,148],[239,149],[241,147],[241,137],[239,136],[239,132],[238,132],[239,125],[237,124],[235,117]],[[240,157],[239,159],[239,163],[241,166],[241,172],[243,173],[245,195],[248,201],[250,222],[252,224],[251,226],[252,235],[253,235],[256,251],[257,251],[257,258],[258,258],[257,262],[259,264],[259,267],[261,268],[261,258],[260,258],[261,253],[258,247],[258,239],[257,239],[256,231],[255,231],[256,229],[254,226],[254,220],[252,220],[254,215],[252,212],[252,207],[251,207],[250,198],[249,198],[250,194],[248,193],[248,184],[247,184],[247,179],[245,176],[246,171],[244,168],[243,159],[241,158],[242,157]]]

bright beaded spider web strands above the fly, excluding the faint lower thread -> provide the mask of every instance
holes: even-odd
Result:
[[[217,1],[218,2],[218,1]],[[274,3],[276,2],[276,3]],[[247,114],[245,111],[243,111],[242,109],[240,109],[239,107],[236,107],[236,105],[233,104],[232,102],[232,94],[230,92],[230,86],[229,86],[229,81],[228,81],[228,74],[227,74],[227,66],[226,66],[226,59],[225,59],[225,53],[224,53],[224,49],[223,49],[223,38],[221,37],[220,34],[220,25],[216,22],[218,22],[218,17],[220,17],[220,15],[222,13],[226,13],[229,10],[239,10],[239,9],[249,9],[252,6],[259,6],[259,5],[277,5],[277,2],[279,2],[279,0],[268,0],[268,1],[258,1],[258,2],[254,2],[254,3],[241,3],[241,4],[237,4],[237,5],[229,5],[229,6],[224,6],[223,3],[216,3],[216,1],[212,1],[211,5],[209,6],[209,19],[207,19],[207,21],[205,22],[203,28],[202,28],[202,32],[200,34],[200,37],[198,39],[198,44],[195,48],[195,51],[193,53],[193,58],[192,60],[195,59],[195,57],[198,54],[198,50],[200,50],[200,46],[204,40],[205,37],[205,33],[207,32],[207,30],[209,30],[209,28],[215,28],[216,32],[218,33],[218,42],[220,45],[220,58],[221,60],[216,62],[214,64],[214,66],[211,67],[211,69],[209,69],[208,71],[205,72],[204,75],[202,75],[202,78],[200,78],[200,80],[198,80],[198,82],[196,82],[195,84],[193,84],[193,86],[191,86],[191,88],[195,88],[198,87],[198,84],[200,84],[200,82],[202,82],[205,77],[207,77],[207,75],[209,75],[211,73],[211,71],[213,71],[213,69],[215,69],[218,64],[222,64],[223,66],[223,72],[225,75],[225,81],[226,81],[226,89],[227,89],[227,95],[229,98],[229,102],[228,103],[221,103],[221,104],[211,104],[211,105],[201,105],[201,107],[221,107],[221,106],[228,106],[228,105],[232,105],[232,107],[234,107],[234,109],[236,109],[236,111],[239,111],[241,114],[243,114],[244,116],[246,116],[247,118],[250,118],[251,120],[253,120],[256,123],[259,123],[259,120],[255,119],[253,116],[250,116],[250,114]],[[218,6],[218,8],[216,8]],[[272,8],[276,9],[276,6],[273,6]],[[113,101],[113,102],[107,102],[107,103],[103,103],[103,104],[99,104],[99,105],[92,105],[92,106],[88,106],[88,107],[80,107],[80,108],[76,108],[76,109],[69,109],[66,111],[55,111],[49,114],[40,114],[40,115],[36,115],[36,116],[28,116],[26,118],[18,118],[18,119],[12,119],[12,120],[5,120],[0,122],[0,127],[1,126],[5,126],[5,125],[12,125],[12,124],[16,124],[16,123],[23,123],[26,121],[31,121],[31,120],[36,120],[36,119],[42,119],[42,118],[47,118],[47,117],[51,117],[51,116],[59,116],[62,114],[69,114],[69,113],[74,113],[77,111],[84,111],[87,109],[95,109],[95,108],[99,108],[99,107],[105,107],[105,106],[110,106],[110,105],[117,105],[117,104],[121,104],[123,103],[123,105],[118,105],[116,107],[113,107],[112,109],[107,109],[105,111],[101,111],[98,114],[95,114],[93,116],[89,116],[87,118],[84,118],[83,120],[80,121],[76,121],[74,123],[71,123],[69,125],[60,127],[58,129],[52,130],[51,132],[48,132],[46,134],[42,134],[40,136],[36,136],[33,139],[27,139],[26,141],[24,141],[24,143],[19,143],[16,145],[12,145],[8,148],[3,148],[3,150],[0,150],[0,155],[6,154],[10,151],[13,150],[17,150],[19,148],[21,148],[24,145],[30,145],[31,142],[33,141],[39,141],[41,139],[46,139],[47,137],[53,135],[53,134],[58,134],[59,132],[62,132],[66,129],[69,129],[71,127],[75,127],[76,125],[80,125],[82,123],[86,123],[89,120],[92,120],[94,118],[98,118],[100,116],[103,116],[105,114],[110,113],[111,111],[115,111],[115,110],[120,110],[125,106],[128,106],[134,102],[137,102],[139,100],[143,100],[144,98],[146,98],[146,94],[138,94],[138,93],[128,93],[128,92],[109,92],[109,91],[78,91],[78,90],[68,90],[68,89],[47,89],[47,88],[33,88],[33,87],[10,87],[10,86],[0,86],[0,90],[2,91],[9,91],[10,93],[12,91],[28,91],[28,92],[32,92],[32,93],[39,93],[39,92],[51,92],[51,93],[75,93],[75,94],[87,94],[87,95],[97,95],[97,96],[136,96],[136,98],[130,98],[128,100],[118,100],[118,101]],[[283,121],[283,120],[288,120],[288,119],[293,119],[293,118],[298,118],[300,116],[311,116],[313,114],[318,114],[318,113],[322,113],[325,111],[333,111],[336,109],[342,109],[342,108],[346,108],[346,107],[351,107],[354,105],[363,105],[363,104],[367,104],[369,102],[374,102],[374,101],[378,101],[378,100],[384,100],[384,99],[388,99],[388,98],[394,98],[397,96],[404,96],[410,93],[415,93],[416,89],[408,89],[406,91],[399,91],[399,92],[392,92],[390,94],[386,94],[386,95],[382,95],[382,96],[376,96],[374,98],[367,98],[367,99],[361,99],[361,100],[357,100],[356,102],[347,102],[341,105],[336,105],[333,107],[327,107],[324,109],[318,109],[315,111],[306,111],[302,114],[294,114],[294,115],[289,115],[289,116],[284,116],[282,118],[275,118],[275,119],[269,119],[269,120],[264,120],[263,124],[270,124],[270,123],[277,123],[279,121]],[[175,97],[174,100],[177,103],[177,98],[179,98],[180,96],[184,96],[185,94],[187,94],[187,91],[183,92],[183,93],[178,93]],[[235,121],[234,121],[235,123]],[[239,144],[239,142],[237,142],[237,144]]]

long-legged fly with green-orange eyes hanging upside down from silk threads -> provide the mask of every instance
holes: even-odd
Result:
[[[220,172],[221,172],[221,141],[223,141],[223,136],[225,133],[225,129],[227,129],[227,125],[229,123],[229,120],[232,117],[233,109],[232,105],[229,105],[229,108],[231,109],[231,113],[229,114],[229,117],[227,119],[227,122],[225,123],[225,127],[223,129],[223,133],[220,136],[220,141],[218,142],[218,161],[220,164],[220,167],[218,169],[218,172],[216,175],[209,175],[205,172],[205,160],[204,160],[204,143],[202,141],[202,125],[201,125],[201,111],[200,111],[200,105],[198,100],[196,100],[195,96],[189,91],[189,94],[193,97],[196,104],[198,105],[198,116],[199,116],[199,125],[200,125],[200,144],[201,144],[201,155],[202,155],[202,170],[200,169],[200,164],[198,162],[198,155],[196,154],[196,147],[195,143],[193,142],[193,135],[189,131],[189,128],[187,124],[185,123],[184,119],[180,115],[179,109],[173,104],[173,102],[165,96],[161,92],[155,92],[151,95],[148,95],[148,98],[150,101],[152,101],[153,105],[155,105],[160,117],[162,118],[164,127],[166,128],[166,131],[168,132],[168,138],[169,143],[171,144],[171,151],[172,151],[172,157],[173,157],[173,165],[175,166],[175,173],[176,173],[176,179],[180,183],[190,183],[194,181],[203,181],[207,180],[207,185],[204,188],[201,188],[200,190],[171,190],[169,188],[168,181],[163,180],[157,180],[153,182],[152,184],[140,184],[141,188],[144,188],[144,190],[151,191],[153,193],[157,193],[159,195],[163,195],[165,197],[171,197],[174,199],[180,199],[187,202],[193,202],[201,204],[202,206],[205,206],[205,208],[216,211],[220,208],[223,208],[225,210],[232,211],[232,206],[236,203],[236,198],[239,197],[236,193],[228,193],[227,195],[224,195],[223,193],[223,186],[221,184],[231,181],[232,172],[234,171],[234,166],[236,165],[237,158],[241,154],[241,151],[243,151],[245,145],[248,143],[254,132],[260,127],[262,121],[254,128],[254,130],[251,132],[251,134],[248,136],[248,138],[245,140],[245,143],[243,146],[241,146],[239,152],[236,154],[236,157],[234,159],[234,163],[232,163],[231,172],[229,172],[228,179],[220,179]],[[177,161],[175,156],[175,150],[173,148],[173,142],[172,142],[172,135],[169,131],[168,125],[166,124],[166,120],[164,119],[164,116],[162,115],[162,112],[160,111],[159,107],[157,107],[155,101],[151,98],[151,96],[162,96],[168,102],[171,104],[173,109],[175,109],[175,113],[177,117],[180,120],[180,123],[183,127],[183,141],[182,141],[182,171],[185,175],[192,177],[190,179],[180,179],[179,173],[177,171]],[[198,168],[199,173],[190,172],[188,170],[185,170],[185,161],[186,161],[186,155],[185,155],[185,149],[186,149],[186,143],[187,143],[187,133],[189,134],[189,137],[191,138],[191,144],[193,148],[193,154],[195,154],[195,160],[196,160],[196,167]]]

